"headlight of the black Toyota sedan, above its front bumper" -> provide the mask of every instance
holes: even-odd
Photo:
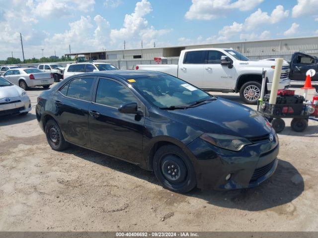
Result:
[[[239,151],[245,145],[252,144],[249,140],[243,137],[233,135],[205,133],[201,135],[200,138],[217,147],[233,151]]]

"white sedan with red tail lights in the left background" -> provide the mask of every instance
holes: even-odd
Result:
[[[37,68],[16,68],[9,69],[4,73],[4,78],[11,83],[18,85],[24,90],[29,87],[42,86],[49,88],[54,83],[51,73],[43,72]]]

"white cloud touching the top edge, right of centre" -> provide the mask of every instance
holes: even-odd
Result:
[[[185,13],[189,20],[211,20],[227,15],[231,9],[251,10],[263,0],[192,0],[192,5]]]

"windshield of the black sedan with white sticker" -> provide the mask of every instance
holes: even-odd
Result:
[[[211,96],[171,75],[128,79],[133,88],[159,108],[186,107]]]

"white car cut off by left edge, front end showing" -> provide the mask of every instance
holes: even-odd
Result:
[[[26,115],[31,111],[31,101],[26,92],[0,77],[0,116]]]

